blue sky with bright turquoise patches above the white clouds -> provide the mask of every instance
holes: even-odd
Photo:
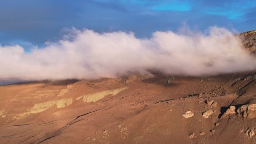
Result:
[[[255,0],[0,0],[0,43],[29,51],[61,38],[64,28],[96,32],[177,31],[186,23],[244,32],[256,29]]]

